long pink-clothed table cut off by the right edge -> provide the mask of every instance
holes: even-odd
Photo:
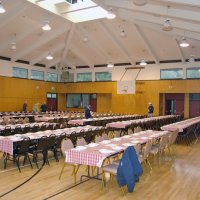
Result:
[[[165,125],[162,126],[161,129],[164,131],[176,131],[178,130],[179,132],[183,132],[183,130],[185,128],[188,128],[189,126],[193,125],[193,124],[198,124],[200,123],[200,116],[198,117],[194,117],[194,118],[190,118],[187,120],[183,120],[180,122],[176,122],[173,124],[169,124],[169,125]]]

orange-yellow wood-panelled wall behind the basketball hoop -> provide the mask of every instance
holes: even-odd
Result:
[[[22,110],[22,104],[28,101],[28,110],[35,103],[46,100],[46,93],[58,93],[58,109],[65,110],[66,93],[96,93],[97,112],[146,114],[148,102],[159,114],[160,93],[200,93],[200,80],[155,80],[137,81],[136,94],[118,95],[117,82],[89,83],[52,83],[0,77],[0,111]],[[188,115],[189,102],[185,102],[185,114]]]

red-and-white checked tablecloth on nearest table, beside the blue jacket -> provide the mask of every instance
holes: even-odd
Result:
[[[101,167],[107,157],[125,150],[128,146],[143,144],[168,133],[168,131],[147,130],[120,138],[104,140],[99,143],[77,146],[65,152],[65,162]]]

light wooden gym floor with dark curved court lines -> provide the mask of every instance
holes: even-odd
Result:
[[[110,189],[101,189],[101,181],[89,180],[72,189],[66,190],[52,198],[48,198],[73,185],[71,176],[72,168],[67,166],[61,180],[58,179],[63,158],[59,162],[50,160],[50,166],[44,168],[33,179],[22,187],[2,197],[2,200],[199,200],[200,199],[200,141],[191,146],[176,145],[176,157],[172,161],[167,155],[160,165],[154,161],[153,171],[150,174],[144,165],[144,172],[140,181],[136,184],[133,193],[123,196],[116,181]],[[153,163],[153,160],[151,160]],[[37,168],[30,166],[13,169],[9,164],[7,171],[3,171],[3,160],[0,160],[0,196],[13,189],[31,175]],[[86,173],[85,167],[81,167],[78,177]],[[79,180],[79,179],[77,179]]]

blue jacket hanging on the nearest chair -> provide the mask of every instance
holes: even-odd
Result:
[[[117,181],[119,186],[127,185],[128,191],[133,192],[135,182],[139,180],[142,166],[133,146],[124,152],[117,169]]]

